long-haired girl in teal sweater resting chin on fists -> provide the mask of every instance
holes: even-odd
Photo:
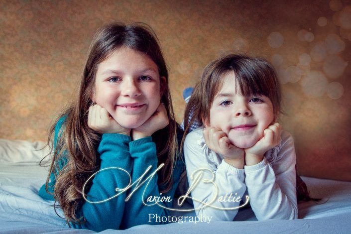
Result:
[[[76,100],[50,129],[53,159],[39,195],[68,225],[103,231],[159,224],[184,168],[156,36],[110,24],[90,46]]]

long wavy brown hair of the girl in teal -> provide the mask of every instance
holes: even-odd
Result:
[[[158,45],[157,36],[144,23],[108,24],[95,34],[90,45],[76,100],[69,104],[56,120],[57,122],[59,119],[65,118],[61,130],[57,134],[57,142],[54,142],[56,147],[52,147],[50,143],[55,134],[56,122],[49,130],[48,144],[53,150],[53,158],[46,179],[46,191],[48,192],[47,186],[50,174],[53,172],[56,177],[53,195],[60,204],[58,206],[55,203],[55,209],[56,206],[63,209],[68,224],[69,222],[84,220],[84,217],[76,216],[76,210],[84,203],[83,185],[100,168],[97,147],[101,140],[101,134],[88,127],[87,123],[98,65],[121,46],[140,51],[149,56],[158,66],[160,77],[166,78],[161,102],[166,107],[169,124],[156,131],[152,138],[156,143],[158,164],[165,164],[158,174],[158,184],[165,187],[162,192],[168,191],[173,185],[171,176],[175,160],[179,156],[176,135],[177,123],[169,92],[168,71]],[[67,159],[67,164],[59,165],[63,158]]]

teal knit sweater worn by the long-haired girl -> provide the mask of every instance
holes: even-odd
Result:
[[[54,148],[59,137],[59,130],[64,121],[65,118],[59,119],[55,126]],[[180,135],[181,132],[178,133],[178,136]],[[104,201],[115,197],[108,201],[95,204],[84,201],[76,211],[76,215],[77,217],[83,215],[86,223],[71,223],[72,227],[100,232],[106,229],[127,229],[142,224],[160,224],[155,223],[155,219],[151,219],[151,222],[149,222],[149,214],[162,217],[168,216],[169,211],[159,205],[152,205],[155,202],[147,202],[147,198],[157,196],[160,198],[168,197],[169,201],[173,200],[175,190],[179,184],[180,175],[184,170],[183,162],[181,160],[176,162],[173,170],[172,188],[167,193],[160,195],[159,185],[157,184],[157,173],[147,179],[157,168],[156,145],[152,141],[151,136],[131,141],[130,136],[118,133],[103,134],[98,147],[98,153],[101,159],[100,171],[92,180],[90,190],[88,192],[85,191],[86,197],[91,202]],[[61,170],[66,163],[67,159],[62,158],[59,161],[59,169]],[[142,177],[139,183],[134,183],[145,173],[149,166],[151,166],[151,169],[148,173]],[[51,173],[50,175],[48,190],[51,193],[54,190],[56,175],[56,173]],[[145,183],[141,185],[144,180],[146,180]],[[129,182],[130,185],[134,183],[131,188],[124,192],[116,190],[116,188],[123,189],[127,187]],[[140,187],[136,189],[137,186]],[[125,200],[130,193],[132,195],[126,202]],[[119,195],[116,196],[117,194]],[[44,199],[54,200],[53,196],[45,191],[45,184],[40,188],[39,195]],[[171,207],[172,201],[159,202],[159,204]]]

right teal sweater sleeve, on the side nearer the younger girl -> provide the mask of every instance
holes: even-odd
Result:
[[[153,216],[167,216],[169,211],[162,208],[170,208],[172,206],[175,190],[179,183],[179,178],[182,173],[182,163],[177,161],[173,170],[173,186],[165,194],[160,194],[157,183],[157,155],[156,145],[152,141],[152,137],[144,137],[129,143],[130,156],[133,159],[132,182],[136,182],[129,190],[131,194],[129,200],[125,204],[124,216],[122,220],[122,229],[127,229],[136,225],[150,224],[156,225]],[[151,166],[150,170],[142,176],[146,169]],[[153,174],[154,173],[154,174]],[[152,175],[153,174],[153,175]],[[137,180],[139,180],[139,183]],[[145,182],[144,182],[145,181]],[[143,183],[144,182],[144,183]],[[143,183],[143,184],[142,184]],[[140,186],[140,187],[138,187]],[[138,188],[137,188],[138,187]],[[155,204],[153,199],[166,199],[158,201]],[[151,199],[151,201],[148,199]]]

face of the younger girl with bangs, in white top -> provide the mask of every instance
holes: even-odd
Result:
[[[266,96],[236,93],[234,72],[224,78],[210,109],[210,126],[222,129],[236,147],[249,148],[274,120],[272,102]]]

